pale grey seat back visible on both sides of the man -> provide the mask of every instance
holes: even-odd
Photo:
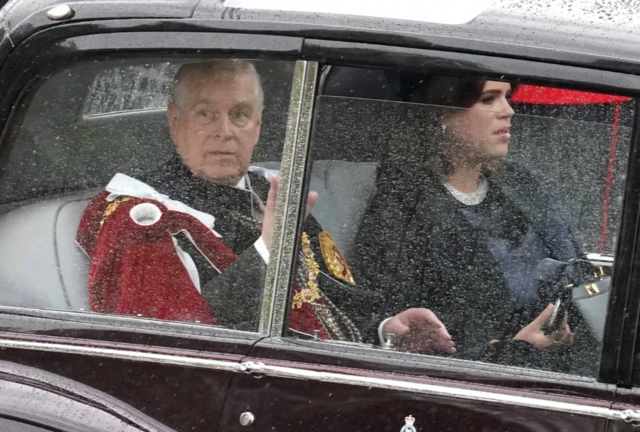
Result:
[[[277,163],[260,164],[277,168]],[[348,257],[375,191],[376,165],[317,161],[313,214]],[[75,243],[87,202],[97,191],[40,200],[0,215],[0,305],[88,310],[89,259]]]

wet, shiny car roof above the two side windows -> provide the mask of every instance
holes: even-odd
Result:
[[[637,65],[636,70],[640,71],[640,14],[635,13],[640,7],[640,0],[363,2],[84,0],[68,4],[76,12],[73,21],[177,18],[192,22],[208,21],[213,25],[218,23],[222,28],[230,28],[230,23],[233,23],[236,28],[253,32],[282,32],[310,38],[535,57],[560,63],[571,63],[576,56],[586,56],[591,58],[591,66],[596,68],[616,70],[619,69],[616,64],[627,63]],[[373,16],[355,15],[358,13],[356,6],[365,3],[369,5],[367,13]],[[427,4],[429,8],[415,12],[411,7],[418,3]],[[11,0],[0,11],[0,20],[3,27],[13,33],[29,17],[44,14],[59,4],[60,0]],[[341,7],[341,4],[346,6]],[[442,23],[446,20],[438,18],[451,16],[451,11],[465,10],[465,5],[470,8],[469,5],[474,4],[482,7],[471,7],[472,13],[465,13],[458,22]],[[269,9],[264,9],[264,5]],[[398,12],[403,8],[409,12]],[[453,15],[455,17],[456,13]],[[36,24],[43,28],[58,23],[37,20]],[[30,25],[31,32],[39,29],[33,22]]]

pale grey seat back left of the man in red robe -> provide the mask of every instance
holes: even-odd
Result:
[[[89,261],[75,244],[94,193],[38,201],[0,215],[0,304],[88,309]]]

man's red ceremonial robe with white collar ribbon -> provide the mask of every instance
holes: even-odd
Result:
[[[108,210],[109,195],[103,191],[91,200],[76,236],[80,247],[91,258],[91,309],[215,324],[215,311],[211,311],[196,289],[178,256],[172,235],[181,231],[188,233],[187,237],[219,272],[234,262],[236,254],[211,229],[187,213],[168,210],[159,201],[135,197],[126,197]],[[150,210],[149,205],[158,210],[157,220],[136,222],[134,217],[140,217],[135,216],[136,211]],[[143,219],[153,217],[147,213]],[[299,291],[296,287],[295,292]],[[316,302],[322,304],[323,301]],[[328,337],[309,303],[291,310],[290,327],[306,334],[318,331],[322,339]]]

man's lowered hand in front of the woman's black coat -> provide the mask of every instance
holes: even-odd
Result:
[[[396,335],[395,345],[405,351],[424,354],[454,354],[455,344],[436,314],[429,309],[413,308],[384,324],[383,334]]]

